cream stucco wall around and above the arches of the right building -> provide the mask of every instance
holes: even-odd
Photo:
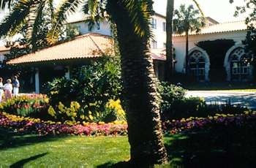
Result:
[[[233,39],[236,44],[241,43],[246,38],[246,31],[233,31],[219,34],[202,34],[189,36],[189,50],[195,47],[195,43],[215,39]],[[186,55],[185,37],[173,37],[173,47],[176,51],[176,72],[184,72],[184,61]],[[216,49],[218,50],[218,49]],[[222,63],[223,64],[223,63]]]

